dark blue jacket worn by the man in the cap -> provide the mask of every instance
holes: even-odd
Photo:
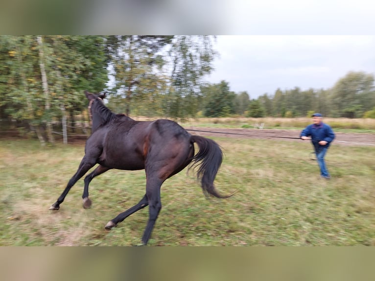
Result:
[[[320,146],[322,146],[318,144],[319,141],[327,141],[327,144],[325,146],[328,148],[329,144],[335,138],[335,134],[333,133],[332,128],[325,123],[320,123],[319,125],[308,125],[301,132],[300,138],[303,136],[311,137],[312,144],[315,148],[319,148]]]

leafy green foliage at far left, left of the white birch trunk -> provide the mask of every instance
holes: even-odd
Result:
[[[33,129],[45,143],[42,130],[45,112],[40,53],[35,36],[1,36],[0,107],[6,117]]]

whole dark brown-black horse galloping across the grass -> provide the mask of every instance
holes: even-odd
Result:
[[[109,230],[148,205],[149,219],[142,237],[144,244],[147,244],[162,208],[160,188],[163,182],[188,164],[198,167],[197,176],[201,179],[206,196],[227,198],[232,195],[220,195],[213,185],[223,156],[215,141],[192,136],[172,120],[136,121],[123,114],[115,114],[103,104],[103,96],[88,92],[86,96],[90,100],[89,114],[93,128],[86,141],[85,156],[63,193],[49,210],[59,210],[70,188],[95,164],[99,165],[84,180],[82,198],[85,209],[92,204],[89,199],[89,184],[94,177],[110,169],[145,170],[146,194],[138,204],[118,214],[105,226]],[[199,147],[196,155],[194,142]]]

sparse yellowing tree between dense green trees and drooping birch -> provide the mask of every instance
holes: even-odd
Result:
[[[124,105],[120,112],[129,116],[133,98],[152,101],[167,83],[163,73],[166,61],[163,49],[171,44],[173,36],[110,36],[107,49],[114,70],[114,95]],[[164,51],[165,53],[165,51]]]

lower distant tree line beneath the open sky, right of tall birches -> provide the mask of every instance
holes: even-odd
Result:
[[[251,99],[247,92],[231,92],[229,84],[221,81],[201,87],[201,94],[201,110],[207,117],[306,117],[320,112],[326,117],[375,118],[374,74],[363,71],[348,72],[326,90],[279,88]]]

